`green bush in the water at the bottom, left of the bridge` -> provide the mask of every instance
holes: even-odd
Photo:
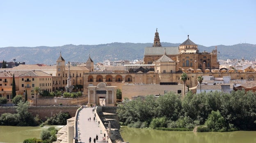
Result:
[[[49,127],[48,129],[42,130],[40,134],[41,139],[25,139],[23,143],[53,143],[54,141],[57,141],[57,132],[58,130],[55,129],[55,127]]]

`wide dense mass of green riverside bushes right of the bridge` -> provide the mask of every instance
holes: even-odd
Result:
[[[121,125],[157,130],[197,132],[256,130],[256,93],[245,90],[188,92],[184,99],[169,92],[133,101],[125,99],[117,109]]]

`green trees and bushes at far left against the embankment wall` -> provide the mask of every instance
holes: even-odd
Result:
[[[38,116],[34,117],[27,111],[30,103],[18,102],[16,113],[4,113],[0,116],[0,125],[36,126],[41,123]]]

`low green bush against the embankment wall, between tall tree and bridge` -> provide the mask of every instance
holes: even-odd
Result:
[[[66,125],[66,120],[71,118],[69,112],[59,112],[52,117],[47,118],[44,122],[45,125]]]

